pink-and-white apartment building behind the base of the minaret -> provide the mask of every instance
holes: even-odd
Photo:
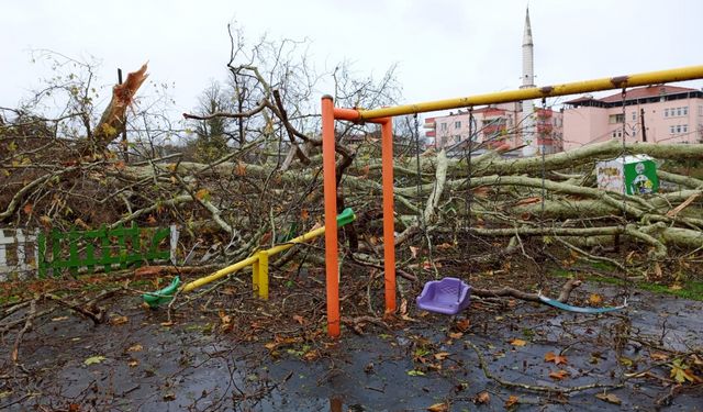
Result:
[[[425,136],[433,140],[435,148],[451,149],[469,137],[469,111],[459,110],[449,115],[425,119]],[[562,116],[551,109],[535,109],[533,114],[536,144],[545,153],[561,152]],[[471,134],[476,148],[495,148],[507,145],[522,147],[524,142],[522,104],[504,103],[473,110]]]

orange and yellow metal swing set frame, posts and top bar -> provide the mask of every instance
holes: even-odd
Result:
[[[335,121],[378,123],[381,125],[381,180],[383,189],[383,258],[386,313],[397,310],[395,244],[393,218],[393,116],[419,114],[439,110],[507,103],[548,97],[587,93],[629,87],[703,79],[703,65],[616,76],[555,86],[506,90],[470,97],[403,104],[372,110],[335,108],[332,96],[322,97],[322,157],[325,207],[325,280],[327,300],[327,334],[338,337],[339,318],[339,260],[337,245],[337,180],[335,164]]]

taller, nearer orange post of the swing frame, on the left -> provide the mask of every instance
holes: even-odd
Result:
[[[325,269],[327,334],[339,336],[339,267],[337,263],[337,183],[335,176],[334,101],[322,97],[322,167],[325,199]]]

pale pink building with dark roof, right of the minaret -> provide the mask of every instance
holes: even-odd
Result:
[[[567,101],[563,149],[609,138],[648,143],[703,143],[703,91],[677,86],[629,89],[602,99]]]

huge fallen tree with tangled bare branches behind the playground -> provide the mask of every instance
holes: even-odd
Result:
[[[232,140],[208,160],[183,146],[166,152],[154,140],[134,144],[125,158],[120,136],[146,66],[115,86],[112,102],[92,124],[82,112],[47,119],[4,110],[0,222],[44,230],[179,223],[190,235],[182,237],[182,250],[200,245],[224,263],[322,222],[320,119],[301,104],[312,86],[301,92],[290,66],[264,70],[252,63],[256,58],[236,64],[241,51],[233,48],[227,65],[238,103],[185,115],[202,126],[201,138],[212,137],[208,131],[222,127],[223,120],[234,121]],[[356,81],[337,69],[333,78],[338,105],[394,101],[392,74],[378,82]],[[71,115],[85,123],[86,135],[62,136],[59,126]],[[670,190],[627,196],[598,189],[594,167],[628,154],[700,162],[703,145],[611,141],[547,155],[544,162],[506,157],[500,146],[450,158],[445,151],[415,153],[417,131],[410,123],[397,122],[394,165],[394,242],[408,278],[417,279],[427,267],[417,260],[432,260],[435,246],[447,244],[456,250],[454,259],[469,265],[502,263],[510,255],[540,263],[561,253],[638,275],[660,276],[662,268],[681,269],[700,258],[702,180],[665,171],[665,163],[658,174]],[[352,207],[359,216],[345,229],[347,253],[380,267],[382,189],[375,127],[337,124],[337,197],[341,209]],[[321,261],[320,249],[310,252],[308,258]]]

